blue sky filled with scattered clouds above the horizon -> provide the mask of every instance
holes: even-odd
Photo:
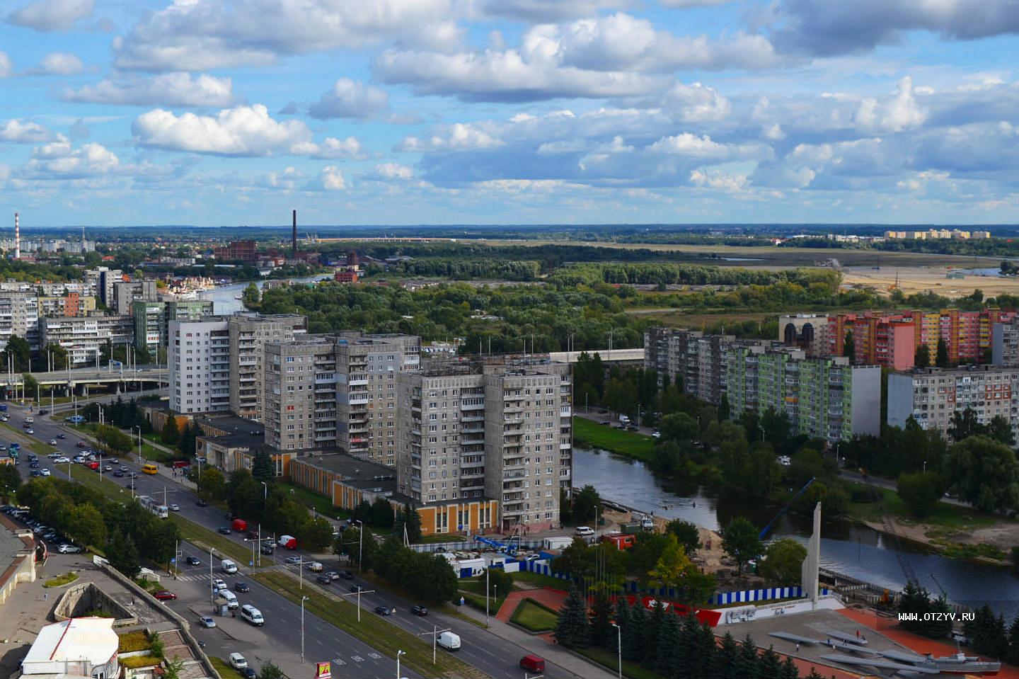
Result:
[[[1016,223],[1017,33],[1015,0],[4,0],[0,214]]]

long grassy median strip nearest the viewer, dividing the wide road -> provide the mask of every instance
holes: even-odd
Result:
[[[391,658],[397,650],[406,651],[403,662],[422,676],[471,679],[485,676],[480,670],[447,652],[439,652],[436,664],[432,665],[432,644],[429,639],[411,634],[371,611],[362,611],[359,623],[357,606],[346,600],[348,597],[324,592],[315,585],[309,585],[302,591],[293,577],[279,571],[259,573],[255,575],[255,579],[294,604],[301,602],[302,594],[308,596],[305,607],[309,613],[372,644],[381,654]]]

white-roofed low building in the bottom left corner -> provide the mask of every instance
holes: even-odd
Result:
[[[112,618],[71,618],[46,625],[21,661],[22,677],[116,679],[120,664],[113,622]]]

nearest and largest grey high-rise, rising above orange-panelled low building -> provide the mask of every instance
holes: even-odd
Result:
[[[502,530],[558,521],[573,474],[570,364],[436,361],[396,382],[399,492],[423,506],[496,500]]]

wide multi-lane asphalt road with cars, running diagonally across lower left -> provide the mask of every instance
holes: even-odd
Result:
[[[23,434],[21,425],[24,417],[29,414],[26,410],[15,407],[13,404],[8,409],[8,415],[10,415],[8,424],[21,430],[22,437],[25,438],[30,436]],[[78,436],[72,427],[54,422],[50,420],[49,416],[40,417],[38,413],[33,413],[32,415],[35,417],[33,427],[35,433],[32,437],[43,441],[56,439],[57,450],[68,458],[73,458],[81,451],[77,448],[77,441],[83,440],[83,437]],[[57,439],[57,434],[59,433],[63,433],[66,438]],[[0,440],[4,438],[10,439],[11,436],[3,432],[2,428],[0,428]],[[22,452],[21,464],[19,465],[22,475],[26,475],[29,471],[28,463],[24,460],[24,456],[28,453],[29,451]],[[51,460],[44,457],[40,458],[40,463],[43,468],[50,469],[54,475],[65,478],[68,476],[68,465],[66,464],[54,465]],[[104,460],[104,466],[105,464]],[[138,473],[138,477],[135,479],[126,476],[117,478],[112,474],[103,474],[104,482],[108,481],[117,484],[125,493],[130,492],[130,486],[133,482],[136,494],[151,495],[160,500],[165,497],[167,504],[176,504],[179,506],[180,511],[178,514],[180,516],[209,529],[215,530],[220,526],[227,525],[227,521],[221,510],[214,507],[198,506],[194,492],[179,484],[175,479],[164,474],[156,476],[142,474],[137,455],[121,457],[119,465],[128,467]],[[250,544],[250,542],[245,542],[243,534],[232,533],[224,537],[232,539],[245,547],[248,547]],[[257,648],[258,656],[263,661],[273,658],[274,654],[277,657],[285,655],[291,658],[300,655],[300,606],[252,580],[249,577],[252,571],[245,565],[242,565],[242,572],[238,575],[225,576],[218,570],[217,562],[217,564],[214,564],[213,573],[210,576],[208,553],[202,553],[194,545],[186,543],[181,545],[181,550],[180,565],[183,570],[175,582],[172,580],[166,581],[168,584],[172,583],[168,588],[173,589],[178,595],[178,599],[170,604],[178,613],[185,618],[190,617],[192,619],[197,618],[199,614],[209,615],[212,609],[209,600],[210,579],[218,577],[230,584],[231,588],[233,583],[238,580],[247,582],[251,586],[251,591],[239,596],[242,604],[252,604],[262,611],[266,618],[266,625],[263,628],[252,627],[242,622],[239,618],[216,618],[217,629],[196,629],[196,633],[200,638],[206,637],[205,640],[210,643],[210,650],[223,650],[229,654],[233,650],[245,652],[246,648]],[[262,557],[262,566],[268,568],[297,569],[297,566],[283,565],[283,557],[293,556],[294,554],[302,556],[305,561],[315,560],[312,555],[302,553],[301,551],[294,553],[277,550],[276,554],[272,557]],[[202,566],[186,567],[183,561],[187,556],[195,556],[200,559]],[[217,559],[221,557],[217,557]],[[271,565],[267,564],[266,560],[269,560]],[[330,568],[339,570],[340,567],[327,562],[326,570]],[[332,589],[342,587],[345,590],[346,585],[361,584],[366,590],[375,589],[374,585],[360,578],[355,579],[353,582],[338,580],[333,584],[322,586],[315,583],[314,578],[308,577],[309,575],[309,573],[305,573],[304,585],[309,588],[322,587],[323,589]],[[520,659],[527,654],[535,652],[534,649],[524,648],[462,619],[434,612],[426,618],[414,616],[411,614],[410,609],[417,603],[405,600],[382,589],[376,589],[373,593],[362,595],[361,605],[365,609],[362,615],[374,616],[376,615],[373,612],[375,607],[388,606],[395,608],[396,613],[387,617],[386,620],[412,634],[430,634],[436,625],[439,629],[451,629],[462,639],[462,647],[458,654],[460,659],[482,670],[491,677],[513,677],[514,679],[520,677]],[[429,637],[424,638],[430,640]],[[308,613],[305,614],[305,647],[306,658],[310,662],[329,660],[339,665],[339,661],[342,661],[346,665],[360,666],[358,670],[354,670],[353,667],[348,668],[350,670],[354,670],[351,676],[363,676],[366,674],[372,676],[394,676],[395,663],[393,659],[382,656],[364,641],[341,632],[329,623]],[[439,652],[444,651],[439,650]],[[540,655],[540,650],[537,652]],[[339,676],[346,676],[346,673],[343,673],[342,670],[338,674]],[[414,676],[409,671],[404,671],[403,674],[409,677]],[[576,675],[560,667],[548,664],[546,676],[573,677]]]

